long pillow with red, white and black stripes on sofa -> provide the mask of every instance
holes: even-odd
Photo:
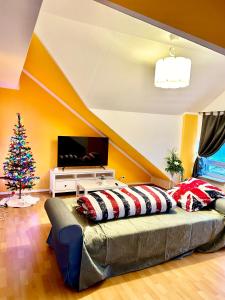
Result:
[[[92,192],[77,203],[77,211],[93,221],[163,213],[176,207],[165,191],[147,185]]]

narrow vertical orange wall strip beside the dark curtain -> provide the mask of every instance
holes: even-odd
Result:
[[[180,157],[184,166],[184,178],[191,177],[198,133],[198,115],[183,115]]]

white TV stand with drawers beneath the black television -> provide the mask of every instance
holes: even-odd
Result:
[[[55,168],[50,170],[50,192],[52,197],[56,193],[76,192],[79,180],[96,180],[104,177],[115,179],[115,170],[103,168],[70,169]],[[96,185],[96,190],[98,185]]]

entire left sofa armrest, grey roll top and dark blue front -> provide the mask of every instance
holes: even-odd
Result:
[[[47,243],[55,251],[64,282],[78,289],[83,246],[82,226],[59,198],[48,199],[45,210],[52,224]]]

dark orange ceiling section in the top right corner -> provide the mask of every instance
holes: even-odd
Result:
[[[224,0],[97,0],[114,3],[225,49]]]

